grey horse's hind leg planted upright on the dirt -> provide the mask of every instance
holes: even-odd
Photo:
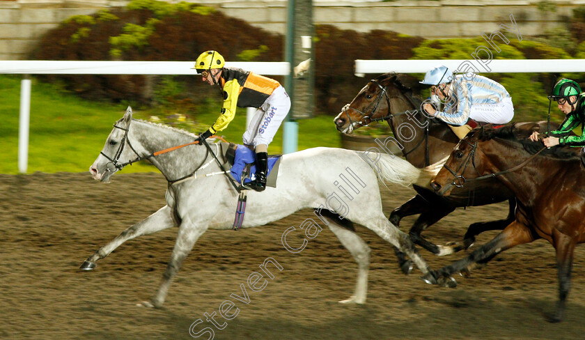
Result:
[[[348,299],[340,301],[341,303],[366,303],[368,291],[368,270],[370,267],[370,247],[362,240],[357,233],[338,226],[329,219],[329,229],[341,241],[341,244],[350,251],[357,263],[357,283],[355,284],[355,293]]]

